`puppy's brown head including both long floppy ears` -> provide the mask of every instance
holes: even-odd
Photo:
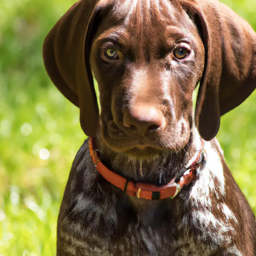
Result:
[[[196,127],[215,137],[220,116],[255,89],[256,35],[215,0],[81,0],[46,37],[44,63],[85,134],[148,156],[188,143],[199,82]]]

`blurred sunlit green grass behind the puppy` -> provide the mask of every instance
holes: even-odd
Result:
[[[44,37],[73,0],[0,0],[0,256],[55,255],[78,109],[51,84]],[[223,0],[256,29],[255,0]],[[246,56],[245,56],[246,57]],[[256,92],[221,119],[218,139],[256,213]]]

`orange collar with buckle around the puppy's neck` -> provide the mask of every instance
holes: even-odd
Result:
[[[93,163],[96,169],[102,177],[116,186],[122,189],[130,196],[136,196],[137,198],[145,198],[149,200],[158,200],[164,198],[174,198],[180,192],[180,189],[184,186],[188,186],[196,178],[196,165],[202,155],[204,148],[204,140],[201,140],[201,148],[196,151],[193,163],[189,166],[188,170],[181,176],[179,182],[175,182],[173,178],[169,183],[164,186],[155,186],[149,183],[134,182],[127,180],[126,178],[118,175],[115,172],[110,171],[105,165],[103,165],[97,154],[97,150],[93,147],[93,138],[89,138],[89,148],[92,156]]]

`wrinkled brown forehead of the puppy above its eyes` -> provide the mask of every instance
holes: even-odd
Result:
[[[102,37],[109,34],[138,43],[169,35],[192,36],[191,29],[195,26],[177,0],[116,0],[99,30],[105,32]]]

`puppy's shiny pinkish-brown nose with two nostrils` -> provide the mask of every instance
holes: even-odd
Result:
[[[164,116],[160,110],[150,105],[137,105],[132,111],[124,110],[124,126],[136,130],[141,136],[148,131],[163,128]]]

